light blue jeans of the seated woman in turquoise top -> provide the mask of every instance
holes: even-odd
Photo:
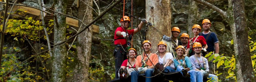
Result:
[[[176,72],[182,71],[184,68],[182,66],[177,66]],[[182,74],[182,72],[180,72]],[[190,82],[203,82],[203,73],[196,70],[189,70]],[[183,74],[182,74],[183,75]]]

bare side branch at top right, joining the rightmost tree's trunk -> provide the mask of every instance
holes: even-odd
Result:
[[[225,16],[226,17],[226,12],[221,10],[220,8],[214,6],[213,4],[210,4],[209,2],[205,1],[205,0],[193,0],[193,1],[196,1],[196,2],[199,2],[201,4],[204,4],[206,5],[207,7],[210,7],[212,8],[213,10],[217,11],[218,13],[220,13],[221,15]]]

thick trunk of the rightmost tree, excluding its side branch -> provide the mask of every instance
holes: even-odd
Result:
[[[255,82],[255,75],[252,69],[251,54],[248,41],[248,29],[243,0],[232,0],[233,18],[233,42],[235,50],[235,75],[238,82]]]

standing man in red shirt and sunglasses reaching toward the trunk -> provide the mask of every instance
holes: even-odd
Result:
[[[115,78],[118,77],[118,70],[121,67],[122,62],[127,59],[126,52],[127,51],[127,42],[126,39],[129,39],[129,36],[131,37],[133,34],[141,30],[143,24],[147,23],[148,21],[146,19],[142,19],[141,23],[138,25],[138,28],[126,30],[130,23],[130,18],[128,16],[124,16],[120,20],[121,26],[117,27],[115,29],[115,35],[114,35],[114,44],[115,49],[113,55],[115,56]],[[123,48],[122,48],[123,47]]]

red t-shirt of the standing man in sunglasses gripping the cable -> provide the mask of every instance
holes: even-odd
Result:
[[[121,36],[118,36],[116,35],[116,32],[117,31],[124,31],[124,28],[122,27],[117,27],[115,29],[115,35],[114,35],[114,44],[115,45],[126,45],[126,39],[124,39],[123,35]],[[131,30],[126,30],[128,32],[129,35],[133,35],[134,33],[134,29],[131,29]],[[124,31],[125,32],[125,31]],[[121,43],[121,44],[120,44]]]

